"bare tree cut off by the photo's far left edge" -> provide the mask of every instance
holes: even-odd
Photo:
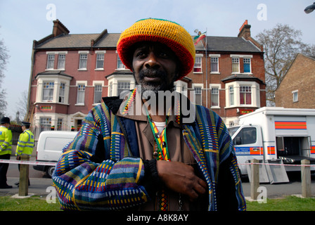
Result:
[[[8,49],[4,45],[4,41],[0,40],[0,116],[3,116],[6,113],[6,89],[2,88],[4,83],[4,70],[6,70],[6,64],[8,63]]]

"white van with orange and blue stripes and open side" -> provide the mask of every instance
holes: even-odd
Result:
[[[257,159],[279,162],[285,171],[299,171],[301,160],[315,164],[315,109],[264,107],[239,117],[229,128],[241,174]],[[314,170],[314,167],[311,168]]]

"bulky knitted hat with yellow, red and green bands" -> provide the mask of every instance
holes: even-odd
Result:
[[[157,41],[168,46],[181,63],[178,79],[185,77],[195,63],[195,46],[191,34],[184,27],[169,20],[148,18],[139,20],[124,30],[117,42],[117,52],[122,63],[132,70],[131,46],[141,41]]]

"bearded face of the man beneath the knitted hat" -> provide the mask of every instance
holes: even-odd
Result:
[[[132,65],[136,84],[142,91],[167,91],[178,76],[176,56],[164,44],[143,42],[136,46]]]

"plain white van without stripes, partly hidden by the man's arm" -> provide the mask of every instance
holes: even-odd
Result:
[[[42,131],[37,143],[36,161],[58,162],[63,147],[75,139],[76,135],[76,131]],[[34,165],[33,168],[46,172],[50,177],[55,170],[51,165]]]

